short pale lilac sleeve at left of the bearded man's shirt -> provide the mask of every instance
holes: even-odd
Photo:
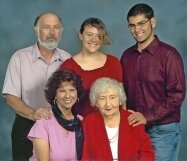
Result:
[[[21,98],[21,65],[18,54],[14,54],[10,59],[2,94],[12,94]]]

